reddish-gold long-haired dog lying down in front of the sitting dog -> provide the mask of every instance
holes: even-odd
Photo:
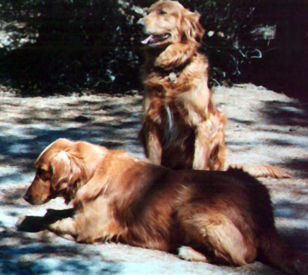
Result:
[[[67,139],[49,145],[36,167],[24,199],[73,200],[71,217],[49,217],[46,226],[65,238],[178,251],[210,263],[245,265],[257,258],[291,274],[306,270],[298,258],[304,255],[292,254],[278,236],[267,189],[241,170],[172,170]]]

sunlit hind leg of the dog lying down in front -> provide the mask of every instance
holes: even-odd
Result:
[[[191,214],[191,212],[190,212]],[[250,229],[242,232],[220,212],[194,213],[181,222],[186,236],[197,251],[206,251],[207,262],[244,265],[257,256],[255,241]],[[180,255],[181,257],[181,255]],[[191,258],[194,258],[191,256]]]

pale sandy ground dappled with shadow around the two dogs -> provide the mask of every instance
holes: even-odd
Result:
[[[308,253],[308,106],[252,84],[218,87],[214,100],[228,116],[230,163],[273,164],[292,174],[261,181],[270,190],[276,224],[289,247]],[[126,245],[83,245],[47,231],[17,231],[20,217],[68,207],[61,198],[42,206],[22,199],[39,153],[66,137],[144,157],[137,139],[141,106],[137,94],[19,98],[0,91],[1,274],[281,274],[259,262],[215,266]]]

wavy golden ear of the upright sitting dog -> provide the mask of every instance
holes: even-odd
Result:
[[[182,40],[190,40],[201,43],[204,29],[199,23],[200,14],[185,10],[182,22]]]

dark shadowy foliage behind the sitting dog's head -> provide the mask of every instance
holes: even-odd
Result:
[[[0,81],[23,95],[142,89],[135,22],[154,1],[1,0]],[[255,82],[303,96],[308,6],[296,0],[183,0],[206,29],[210,84]],[[275,39],[256,36],[276,26]],[[2,44],[1,44],[2,43]]]

